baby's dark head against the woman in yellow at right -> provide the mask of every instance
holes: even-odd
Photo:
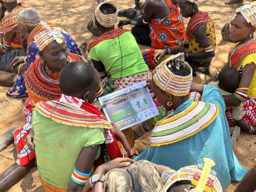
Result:
[[[230,68],[228,66],[224,67],[218,78],[220,88],[229,93],[233,93],[239,86],[240,74],[234,68]]]

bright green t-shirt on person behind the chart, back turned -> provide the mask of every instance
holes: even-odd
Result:
[[[103,40],[91,48],[88,57],[101,61],[112,79],[120,78],[121,74],[125,77],[148,70],[140,48],[129,31],[114,39]]]

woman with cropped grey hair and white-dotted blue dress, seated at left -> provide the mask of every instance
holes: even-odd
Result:
[[[12,68],[17,68],[19,65],[24,65],[25,70],[31,65],[32,62],[38,56],[39,51],[35,41],[34,36],[44,29],[44,26],[56,27],[56,24],[46,23],[41,20],[40,14],[32,8],[27,8],[20,11],[17,15],[17,28],[20,31],[20,36],[24,39],[23,47],[26,50],[26,57],[16,57],[12,61]],[[71,53],[81,55],[81,52],[74,41],[74,39],[63,29],[61,29],[61,34],[66,40],[66,44]],[[24,62],[25,61],[25,62]],[[22,67],[20,68],[22,69]],[[24,71],[25,71],[24,70]],[[24,72],[23,71],[23,72]],[[15,79],[17,78],[16,82]],[[15,87],[9,91],[9,94],[22,98],[27,97],[27,89],[24,83],[24,73],[20,74],[18,77],[13,78],[11,86],[15,83]]]

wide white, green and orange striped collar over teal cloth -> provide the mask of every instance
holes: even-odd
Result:
[[[151,134],[151,146],[162,146],[195,135],[214,121],[217,105],[195,101],[186,110],[158,122]]]

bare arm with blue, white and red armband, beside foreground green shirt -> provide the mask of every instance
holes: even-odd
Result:
[[[68,182],[68,192],[82,191],[87,179],[91,176],[91,169],[98,149],[99,145],[90,145],[82,148]]]

